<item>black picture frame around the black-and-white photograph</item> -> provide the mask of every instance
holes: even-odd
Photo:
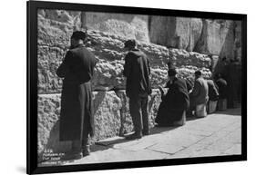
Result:
[[[73,11],[93,11],[93,12],[111,12],[124,14],[138,14],[138,15],[173,15],[184,17],[200,17],[212,19],[229,19],[241,20],[241,54],[242,54],[242,106],[241,106],[241,155],[230,155],[221,157],[199,157],[199,158],[184,158],[172,160],[141,160],[115,163],[100,163],[87,165],[67,165],[67,166],[53,166],[53,167],[38,167],[37,165],[37,9],[65,9]],[[26,2],[27,10],[27,158],[26,167],[27,174],[40,173],[56,173],[56,172],[70,172],[82,170],[112,170],[112,169],[127,169],[139,167],[153,167],[153,166],[169,166],[181,164],[195,164],[195,163],[210,163],[223,161],[241,161],[247,160],[247,15],[242,14],[225,14],[212,12],[197,12],[197,11],[183,11],[183,10],[169,10],[169,9],[154,9],[141,7],[124,7],[113,5],[86,5],[73,3],[56,3],[43,1],[28,1]]]

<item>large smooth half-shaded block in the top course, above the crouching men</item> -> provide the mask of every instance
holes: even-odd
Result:
[[[149,19],[151,43],[193,51],[200,39],[200,18],[152,15]]]

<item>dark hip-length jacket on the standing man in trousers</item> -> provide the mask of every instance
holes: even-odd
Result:
[[[138,49],[128,52],[125,57],[124,76],[127,77],[126,92],[129,98],[147,96],[151,93],[149,83],[149,62],[145,53]]]

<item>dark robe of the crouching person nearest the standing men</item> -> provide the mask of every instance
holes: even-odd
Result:
[[[189,108],[189,92],[185,80],[175,78],[167,87],[169,91],[162,97],[156,118],[159,126],[171,126]]]

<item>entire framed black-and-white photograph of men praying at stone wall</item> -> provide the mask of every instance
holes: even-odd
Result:
[[[247,160],[247,15],[27,2],[27,173]]]

